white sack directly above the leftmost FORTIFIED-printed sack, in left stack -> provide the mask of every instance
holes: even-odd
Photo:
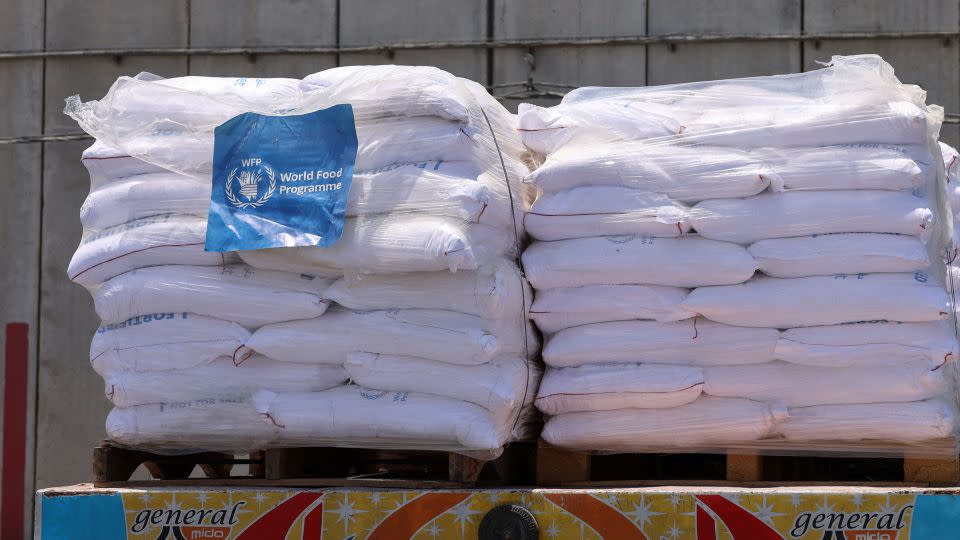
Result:
[[[97,315],[109,322],[173,310],[255,328],[323,314],[329,285],[328,279],[245,264],[155,266],[107,281],[93,291],[93,302]]]

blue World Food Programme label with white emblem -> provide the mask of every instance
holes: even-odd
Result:
[[[204,249],[332,245],[343,232],[356,161],[350,105],[224,122],[214,131]]]

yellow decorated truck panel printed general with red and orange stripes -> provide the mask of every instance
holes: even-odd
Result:
[[[76,521],[89,500],[71,512],[69,499],[96,493],[41,492],[41,538],[88,538],[61,531],[92,527],[99,533],[89,538],[98,539],[473,539],[488,512],[511,504],[532,515],[544,539],[949,538],[927,535],[960,519],[960,496],[895,490],[101,491],[108,510],[89,526]],[[58,520],[70,516],[63,529]]]

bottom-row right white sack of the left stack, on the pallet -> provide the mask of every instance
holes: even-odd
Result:
[[[397,440],[425,448],[496,449],[509,435],[489,411],[455,399],[387,392],[356,385],[323,392],[262,391],[257,410],[280,427],[284,444],[308,446],[350,443],[392,446]]]

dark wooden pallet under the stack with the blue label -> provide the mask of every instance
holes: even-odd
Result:
[[[268,448],[240,458],[204,452],[161,455],[121,448],[104,441],[94,448],[94,484],[98,487],[143,486],[290,486],[444,488],[477,484],[533,483],[533,444],[507,446],[497,459],[484,461],[462,454],[426,450],[362,448]],[[249,474],[234,476],[233,467],[249,465]],[[144,465],[152,477],[130,481]],[[200,467],[202,478],[191,478]]]

